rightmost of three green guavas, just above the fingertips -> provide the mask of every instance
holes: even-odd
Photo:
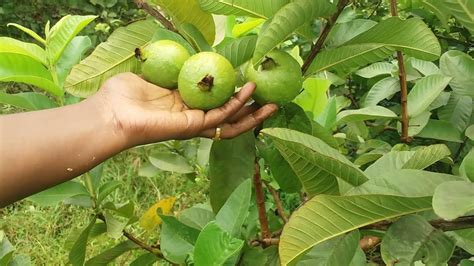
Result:
[[[303,86],[298,61],[288,53],[278,50],[269,52],[257,69],[249,63],[245,78],[257,85],[252,98],[261,105],[288,103],[300,93]]]

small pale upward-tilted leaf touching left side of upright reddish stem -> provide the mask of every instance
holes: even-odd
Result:
[[[376,106],[383,99],[390,99],[400,91],[400,82],[393,77],[386,77],[379,80],[370,88],[362,103],[362,107]]]

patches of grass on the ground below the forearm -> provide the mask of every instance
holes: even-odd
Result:
[[[151,148],[125,151],[106,163],[102,182],[123,182],[123,185],[108,197],[109,201],[133,202],[138,216],[153,203],[168,196],[177,198],[175,212],[207,201],[207,180],[193,182],[186,176],[169,172],[160,172],[149,178],[138,176],[138,168],[146,161]],[[76,233],[78,228],[89,222],[91,214],[91,210],[78,206],[60,204],[54,207],[38,207],[31,201],[23,200],[0,210],[0,230],[5,232],[15,246],[16,253],[30,256],[34,265],[64,265],[67,264],[69,254],[65,248],[66,240],[69,235]],[[149,243],[158,239],[157,234],[145,237],[137,223],[127,227],[127,230],[150,241]],[[90,258],[123,240],[123,237],[113,240],[104,234],[90,241],[86,256]],[[138,254],[143,252],[129,252],[115,263],[129,264]]]

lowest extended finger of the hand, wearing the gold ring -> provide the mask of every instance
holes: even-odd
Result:
[[[221,128],[221,138],[230,139],[234,138],[254,127],[261,124],[265,119],[278,110],[275,104],[267,104],[258,109],[257,111],[239,119],[234,123],[226,123]],[[210,128],[202,132],[202,136],[212,138],[216,133],[215,128]]]

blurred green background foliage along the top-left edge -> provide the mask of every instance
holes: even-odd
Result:
[[[105,41],[114,29],[145,17],[133,0],[1,0],[0,36],[31,40],[28,35],[7,27],[10,22],[26,26],[44,36],[44,25],[54,25],[67,14],[98,15],[81,35],[88,35],[95,45]]]

